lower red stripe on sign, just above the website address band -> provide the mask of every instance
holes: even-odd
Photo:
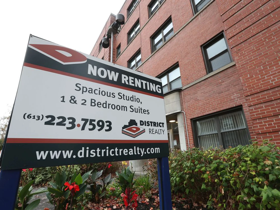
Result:
[[[25,139],[7,138],[7,143],[89,143],[89,144],[110,144],[110,143],[168,143],[168,140],[110,140],[110,139]]]

